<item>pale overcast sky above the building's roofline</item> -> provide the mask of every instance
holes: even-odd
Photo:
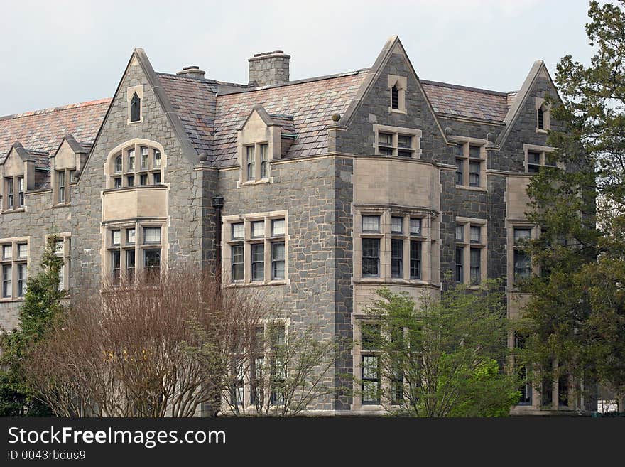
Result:
[[[112,96],[135,47],[155,70],[247,82],[284,50],[290,79],[371,66],[397,34],[419,77],[510,91],[534,60],[587,63],[586,0],[1,0],[0,115]]]

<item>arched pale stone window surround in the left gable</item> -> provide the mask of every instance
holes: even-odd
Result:
[[[148,168],[141,168],[141,146],[148,148]],[[134,171],[128,170],[128,151],[129,149],[134,149],[135,151],[135,163],[134,163]],[[154,166],[154,151],[159,151],[161,153],[161,166]],[[121,155],[121,172],[115,171],[115,159],[117,156]],[[158,185],[165,184],[165,168],[167,167],[167,154],[165,154],[165,149],[163,146],[156,141],[151,141],[149,139],[142,138],[134,138],[129,141],[126,141],[122,144],[118,144],[111,151],[109,151],[109,155],[107,156],[107,161],[104,163],[104,177],[106,178],[107,188],[115,188],[115,178],[121,177],[121,188],[134,189],[137,186],[140,186],[138,183],[138,176],[143,174],[153,174],[158,171],[161,172],[161,183]],[[129,175],[135,176],[134,186],[127,186],[127,177]],[[148,180],[149,182],[149,180]],[[148,183],[148,185],[153,185],[153,183]],[[119,189],[119,188],[117,188]]]

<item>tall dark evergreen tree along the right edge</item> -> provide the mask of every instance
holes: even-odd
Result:
[[[567,55],[553,108],[560,131],[548,144],[560,168],[541,168],[528,187],[528,218],[541,226],[528,247],[539,277],[523,332],[528,361],[552,380],[550,361],[577,381],[598,380],[625,398],[625,11],[591,1],[588,66]],[[565,169],[562,170],[562,167]],[[540,377],[535,375],[535,380]]]

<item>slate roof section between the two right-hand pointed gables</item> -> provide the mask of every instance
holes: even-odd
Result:
[[[468,117],[503,123],[508,113],[508,92],[497,92],[421,80],[434,112],[445,117]]]

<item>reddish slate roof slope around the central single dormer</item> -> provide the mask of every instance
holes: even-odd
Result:
[[[367,73],[368,70],[361,70],[217,95],[213,146],[215,165],[236,163],[236,129],[241,127],[256,104],[261,104],[268,114],[293,117],[298,138],[290,146],[288,157],[325,153],[326,127],[332,122],[332,114],[343,114],[347,110]]]

